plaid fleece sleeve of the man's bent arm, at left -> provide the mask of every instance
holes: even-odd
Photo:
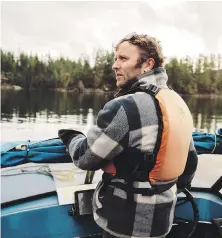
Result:
[[[63,135],[63,143],[74,164],[83,170],[103,168],[126,146],[129,134],[127,115],[118,100],[108,102],[97,116],[97,123],[87,133]]]

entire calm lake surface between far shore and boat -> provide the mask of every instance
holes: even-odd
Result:
[[[53,138],[61,128],[86,132],[112,98],[113,94],[2,90],[2,141]],[[222,98],[183,98],[193,115],[194,130],[215,132],[222,127]]]

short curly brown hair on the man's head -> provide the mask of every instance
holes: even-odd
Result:
[[[140,49],[140,59],[136,67],[141,67],[142,64],[149,58],[153,58],[155,61],[154,68],[163,66],[164,56],[162,52],[161,42],[154,37],[145,34],[131,33],[120,40],[115,49],[124,42],[127,41],[132,45],[136,45]]]

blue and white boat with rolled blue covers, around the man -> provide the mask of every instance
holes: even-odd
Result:
[[[178,193],[174,225],[167,237],[219,238],[222,139],[206,133],[193,133],[193,139],[198,169],[191,188]],[[101,237],[91,207],[101,171],[94,175],[76,168],[59,139],[10,142],[1,150],[3,238]]]

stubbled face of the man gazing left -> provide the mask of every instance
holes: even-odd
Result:
[[[120,43],[117,47],[115,62],[112,66],[116,75],[117,87],[124,87],[130,79],[141,74],[141,68],[136,68],[139,57],[140,52],[138,47],[127,41]]]

